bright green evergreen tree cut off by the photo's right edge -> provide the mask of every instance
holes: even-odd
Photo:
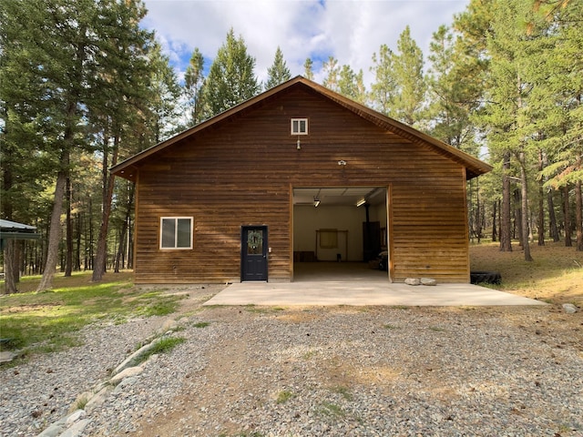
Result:
[[[537,38],[529,58],[530,73],[536,87],[532,107],[537,117],[537,129],[542,134],[541,147],[553,158],[542,177],[546,188],[574,188],[577,249],[583,250],[583,29],[581,2],[543,4],[528,26],[529,36],[537,32],[537,16],[548,23],[544,37]],[[560,6],[560,7],[559,7]],[[539,42],[540,41],[540,42]],[[544,117],[543,117],[544,116]],[[567,188],[567,189],[565,189]],[[569,242],[568,215],[565,214],[565,242]]]

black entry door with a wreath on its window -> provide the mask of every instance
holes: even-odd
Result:
[[[267,280],[267,226],[243,226],[240,248],[240,280]]]

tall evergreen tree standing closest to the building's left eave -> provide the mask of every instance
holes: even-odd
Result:
[[[159,58],[154,50],[153,61],[147,62],[153,36],[139,27],[139,21],[146,15],[140,0],[99,2],[96,9],[97,14],[105,18],[105,25],[94,27],[99,36],[95,70],[97,87],[88,105],[89,119],[93,121],[99,138],[97,144],[100,145],[103,176],[94,281],[101,280],[106,271],[107,234],[115,182],[108,169],[118,163],[124,138],[138,122],[139,110],[146,110],[146,102],[151,97],[148,93],[149,67]]]

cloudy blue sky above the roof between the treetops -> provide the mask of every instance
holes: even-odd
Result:
[[[255,57],[255,73],[263,81],[278,46],[292,76],[302,75],[307,57],[314,60],[316,81],[322,81],[321,60],[328,56],[357,72],[365,83],[372,56],[382,44],[396,50],[405,25],[429,53],[439,25],[450,25],[469,0],[144,0],[148,16],[142,23],[155,30],[181,79],[195,47],[208,68],[232,27]]]

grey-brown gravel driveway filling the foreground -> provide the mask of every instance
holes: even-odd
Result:
[[[559,306],[200,307],[83,435],[583,436],[583,317]],[[0,370],[1,435],[36,435],[168,320]],[[207,325],[208,323],[208,325]]]

